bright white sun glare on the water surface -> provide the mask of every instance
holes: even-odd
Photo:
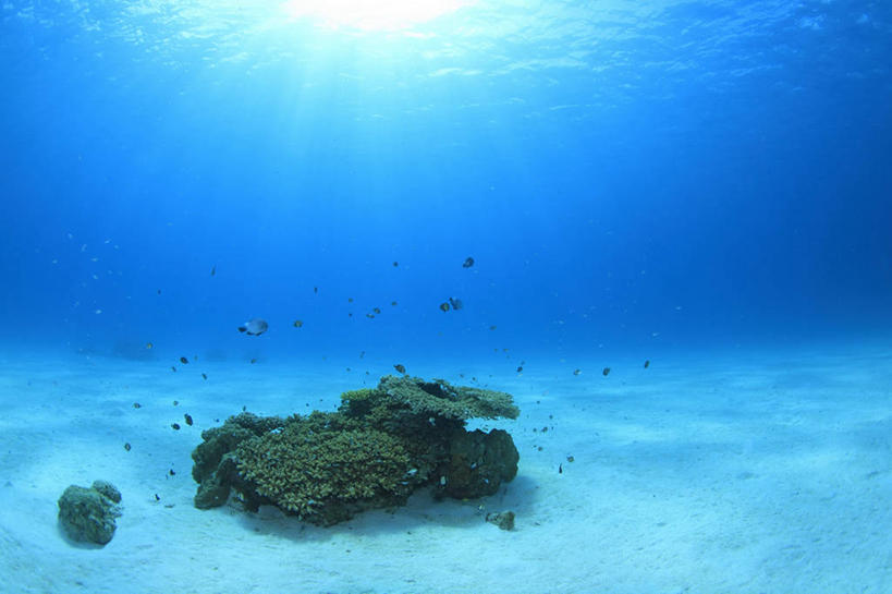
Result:
[[[449,14],[473,0],[288,0],[291,19],[314,19],[330,27],[399,31]]]

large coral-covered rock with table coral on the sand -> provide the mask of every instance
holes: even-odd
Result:
[[[518,414],[505,392],[392,375],[344,392],[337,412],[245,412],[201,433],[192,452],[195,507],[233,495],[251,511],[270,505],[331,525],[403,506],[421,487],[436,497],[492,495],[517,474],[517,448],[506,432],[468,432],[465,421]]]

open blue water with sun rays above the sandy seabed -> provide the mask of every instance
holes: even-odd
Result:
[[[3,0],[3,349],[504,372],[882,340],[890,64],[866,0],[481,0],[388,31]]]

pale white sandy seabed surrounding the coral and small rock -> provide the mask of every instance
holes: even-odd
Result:
[[[0,591],[892,592],[892,353],[742,360],[615,362],[608,378],[528,364],[489,378],[522,409],[493,424],[521,451],[506,493],[423,494],[321,529],[272,509],[195,509],[190,452],[242,404],[333,410],[357,373],[5,355]],[[124,497],[103,548],[68,542],[57,523],[62,490],[95,478]],[[514,510],[516,530],[484,522],[481,502]]]

